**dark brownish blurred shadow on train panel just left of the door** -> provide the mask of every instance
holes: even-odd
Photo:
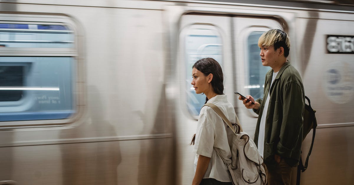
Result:
[[[159,97],[159,104],[153,121],[153,129],[149,134],[164,134],[166,131],[169,131],[169,125],[166,119],[167,106],[165,86],[161,87],[160,96],[156,97]],[[148,99],[148,101],[149,100],[153,101],[151,99]],[[145,104],[145,113],[149,112],[149,109],[152,108],[150,105],[154,104],[156,105],[156,103],[147,102]],[[144,123],[144,133],[148,127],[148,120],[143,113],[140,116]],[[139,185],[175,184],[172,176],[172,169],[174,168],[172,148],[172,140],[169,138],[146,139],[141,141],[138,166]]]

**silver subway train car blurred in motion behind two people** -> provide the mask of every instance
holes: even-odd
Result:
[[[233,92],[262,96],[257,41],[275,28],[317,111],[301,184],[353,184],[351,0],[0,0],[0,184],[191,184],[193,63],[221,64],[253,138]]]

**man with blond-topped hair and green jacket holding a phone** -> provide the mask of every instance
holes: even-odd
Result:
[[[264,159],[268,185],[291,183],[291,170],[299,163],[305,95],[299,72],[287,60],[289,36],[272,29],[258,40],[265,75],[263,99],[246,96],[247,108],[258,116],[255,143]],[[239,97],[242,100],[242,97]]]

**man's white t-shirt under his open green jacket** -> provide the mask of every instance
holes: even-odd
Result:
[[[279,72],[279,71],[278,71]],[[273,72],[273,77],[272,77],[272,82],[270,83],[270,87],[272,87],[273,81],[278,74],[278,72],[274,73]],[[270,91],[270,88],[269,88]],[[264,131],[265,131],[265,118],[267,117],[267,112],[268,112],[268,105],[269,105],[269,99],[270,99],[270,94],[268,92],[267,99],[265,100],[264,103],[264,110],[261,118],[261,123],[259,125],[259,134],[258,134],[258,151],[259,154],[263,157],[263,151],[264,151]]]

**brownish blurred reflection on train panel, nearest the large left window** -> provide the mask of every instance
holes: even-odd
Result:
[[[98,89],[89,86],[87,92],[89,114],[86,122],[75,128],[63,129],[61,139],[116,136],[113,125],[102,116],[105,107],[102,106]],[[62,144],[61,151],[63,184],[118,184],[117,166],[121,162],[119,141]]]

